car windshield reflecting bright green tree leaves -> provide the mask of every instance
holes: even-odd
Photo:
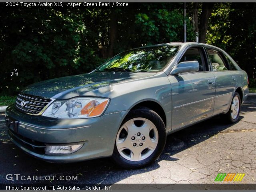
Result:
[[[122,52],[96,69],[102,71],[157,72],[165,68],[180,46],[152,46]]]

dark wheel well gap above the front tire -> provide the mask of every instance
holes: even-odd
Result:
[[[137,109],[140,107],[147,107],[153,110],[154,112],[156,112],[162,118],[164,125],[166,126],[166,115],[162,106],[160,106],[160,104],[154,101],[143,101],[141,103],[136,104],[131,110]]]

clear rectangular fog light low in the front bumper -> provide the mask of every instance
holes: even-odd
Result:
[[[73,145],[46,145],[45,154],[69,154],[78,151],[82,143]]]

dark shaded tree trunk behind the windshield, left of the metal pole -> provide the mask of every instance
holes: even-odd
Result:
[[[116,34],[117,34],[117,13],[112,10],[110,13],[110,23],[109,23],[109,48],[108,57],[113,56],[114,45],[116,44]]]

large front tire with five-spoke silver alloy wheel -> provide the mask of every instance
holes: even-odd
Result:
[[[164,150],[166,128],[149,108],[129,112],[116,136],[112,159],[123,168],[139,168],[154,162]]]

